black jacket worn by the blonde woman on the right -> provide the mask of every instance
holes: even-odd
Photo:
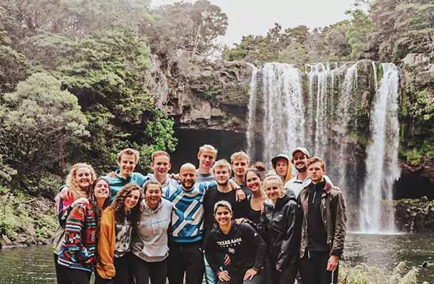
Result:
[[[302,209],[292,190],[288,190],[273,206],[265,202],[259,225],[267,237],[270,260],[277,271],[298,260],[302,226]]]

